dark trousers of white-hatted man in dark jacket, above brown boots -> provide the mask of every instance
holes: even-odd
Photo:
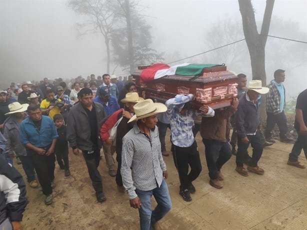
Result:
[[[247,135],[247,138],[249,139],[248,143],[243,143],[241,138],[237,138],[237,153],[236,153],[235,163],[236,166],[238,167],[243,166],[244,157],[246,156],[246,151],[249,146],[249,143],[251,144],[252,147],[250,166],[252,167],[257,166],[257,163],[262,155],[264,137],[260,133],[260,131],[257,130],[255,135]]]

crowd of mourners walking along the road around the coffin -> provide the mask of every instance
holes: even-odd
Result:
[[[0,228],[20,229],[27,204],[26,186],[12,166],[12,158],[22,165],[30,188],[38,187],[39,182],[49,205],[56,186],[55,160],[64,176],[70,175],[70,146],[73,154],[83,155],[98,202],[106,200],[98,170],[103,149],[108,174],[115,177],[118,190],[128,194],[130,206],[139,211],[140,228],[160,229],[158,221],[171,208],[163,160],[169,156],[167,128],[180,181],[179,195],[187,202],[196,192],[192,182],[202,169],[195,141],[198,131],[211,186],[223,187],[221,168],[232,154],[240,175],[263,174],[258,161],[263,148],[275,142],[271,135],[274,125],[279,128],[280,141],[293,141],[287,135],[284,79],[285,71],[277,69],[267,87],[257,77],[246,86],[246,75],[238,74],[238,94],[230,106],[212,109],[202,105],[198,110],[190,107],[193,94],[178,94],[165,103],[146,98],[144,91],[137,92],[132,76],[122,79],[103,74],[96,78],[91,74],[86,80],[79,76],[67,83],[61,78],[11,83],[0,90]],[[264,132],[259,119],[262,94],[266,94],[267,112]],[[299,168],[305,167],[298,161],[301,149],[307,158],[306,99],[307,89],[297,97],[294,127],[298,138],[287,161]],[[154,210],[152,195],[157,202]]]

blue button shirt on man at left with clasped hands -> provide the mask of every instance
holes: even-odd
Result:
[[[19,137],[23,145],[31,143],[36,147],[45,147],[51,144],[58,135],[51,118],[42,115],[39,131],[30,117],[24,119],[20,124]]]

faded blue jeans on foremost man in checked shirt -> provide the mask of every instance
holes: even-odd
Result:
[[[136,188],[135,192],[141,203],[140,208],[138,208],[140,229],[150,230],[151,224],[160,220],[171,208],[167,184],[163,179],[160,187],[156,187],[149,191],[143,191]],[[151,209],[152,195],[157,202],[154,210]]]

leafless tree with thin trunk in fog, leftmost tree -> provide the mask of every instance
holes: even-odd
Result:
[[[116,3],[116,2],[115,2]],[[106,47],[106,71],[110,70],[111,33],[116,29],[118,15],[114,12],[114,2],[110,0],[69,0],[68,6],[79,14],[88,16],[88,21],[78,24],[83,33],[99,32],[104,38]]]

